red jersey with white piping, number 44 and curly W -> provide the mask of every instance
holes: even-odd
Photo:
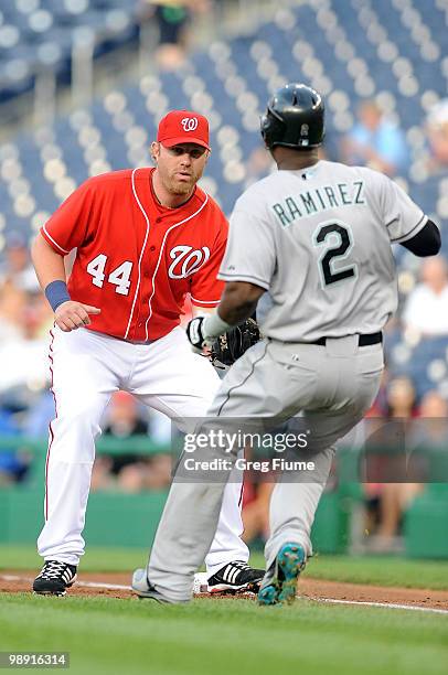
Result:
[[[102,310],[88,328],[136,342],[178,325],[186,293],[195,306],[215,307],[223,290],[216,279],[228,229],[223,212],[198,185],[179,208],[162,206],[152,171],[87,180],[41,229],[56,253],[77,248],[70,296]]]

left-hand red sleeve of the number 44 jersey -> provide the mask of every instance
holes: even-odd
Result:
[[[87,237],[94,211],[94,191],[86,181],[67,197],[41,227],[41,235],[62,256],[79,247]]]

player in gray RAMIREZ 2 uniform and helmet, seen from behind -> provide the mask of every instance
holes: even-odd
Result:
[[[193,319],[188,335],[202,349],[249,317],[259,300],[264,339],[230,368],[207,415],[216,426],[244,415],[268,419],[271,428],[300,415],[311,430],[317,480],[284,474],[270,503],[258,601],[277,604],[295,599],[312,553],[310,531],[333,446],[378,390],[382,329],[397,307],[391,244],[429,256],[438,253],[440,235],[385,175],[319,160],[324,110],[310,87],[279,89],[262,118],[262,135],[278,171],[236,202],[218,275],[227,282],[221,303],[214,314]],[[228,450],[225,442],[206,448],[209,458],[234,461],[235,449]],[[224,482],[174,480],[148,567],[134,575],[139,596],[191,598],[223,490]]]

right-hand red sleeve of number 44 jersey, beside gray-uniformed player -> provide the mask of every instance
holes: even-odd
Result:
[[[221,228],[210,258],[191,278],[190,296],[195,307],[217,307],[224,290],[217,272],[225,250],[228,225],[223,214],[221,217]]]

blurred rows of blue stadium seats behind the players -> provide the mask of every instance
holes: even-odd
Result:
[[[32,21],[32,11],[23,11],[28,6],[42,8],[43,3],[2,3],[0,86],[2,83],[9,90],[26,82],[30,86],[26,64],[38,57],[39,47],[42,57],[42,45],[49,44],[50,38],[60,50],[47,51],[46,58],[53,58],[56,67],[66,65],[67,35],[73,28],[87,22],[95,30],[105,22],[107,12],[122,3],[52,0],[45,10],[33,10],[44,13]],[[259,115],[267,96],[285,81],[305,79],[328,97],[330,156],[364,98],[377,95],[396,116],[407,133],[412,156],[404,184],[440,224],[448,254],[447,172],[428,175],[422,164],[422,153],[427,151],[427,109],[445,95],[446,87],[447,68],[438,76],[444,66],[437,55],[442,53],[447,31],[446,12],[440,7],[436,0],[418,6],[412,0],[308,0],[296,8],[281,8],[253,35],[214,42],[193,53],[175,73],[148,74],[139,85],[124,86],[88,109],[58,119],[51,131],[29,132],[1,146],[0,218],[8,229],[19,228],[31,237],[42,214],[51,213],[89,175],[148,163],[148,146],[158,120],[175,107],[198,108],[210,117],[213,152],[204,186],[228,214],[250,179],[247,162],[260,147]],[[131,9],[128,19],[122,34],[129,36]],[[21,46],[22,35],[30,31],[34,43]],[[8,71],[12,54],[15,65]],[[398,267],[407,269],[406,251],[396,248]],[[412,269],[407,274],[415,279]],[[391,354],[393,362],[393,349]],[[422,387],[433,386],[422,346],[415,347],[406,367],[417,357],[424,360]],[[438,358],[437,350],[433,358]],[[398,362],[396,365],[401,367]]]

